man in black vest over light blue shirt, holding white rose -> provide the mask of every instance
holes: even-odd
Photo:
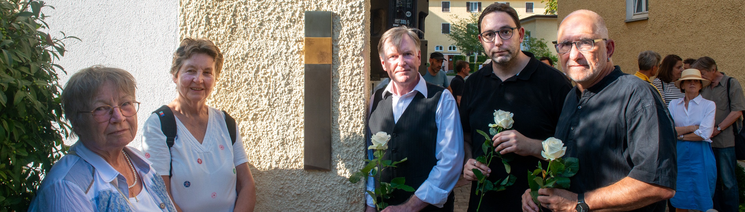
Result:
[[[370,98],[367,132],[390,135],[384,160],[401,161],[380,170],[379,182],[404,177],[414,192],[394,190],[384,211],[453,211],[451,193],[463,166],[463,131],[457,104],[450,91],[425,82],[419,75],[419,36],[411,28],[392,28],[378,44],[383,69],[390,83]],[[367,138],[370,138],[368,136]],[[368,141],[368,146],[372,145]],[[368,150],[369,159],[373,151]],[[375,179],[367,179],[367,190]],[[367,211],[375,211],[367,196]],[[380,201],[381,199],[378,199]]]

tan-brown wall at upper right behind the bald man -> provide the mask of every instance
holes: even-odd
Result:
[[[600,1],[597,1],[600,2]],[[574,10],[588,9],[603,16],[609,37],[615,40],[612,60],[621,70],[638,70],[641,51],[656,51],[662,57],[676,54],[683,59],[708,56],[720,71],[745,80],[745,1],[650,1],[649,19],[624,22],[626,1],[589,3],[559,0],[559,22]]]

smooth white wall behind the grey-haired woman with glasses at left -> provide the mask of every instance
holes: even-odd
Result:
[[[77,36],[66,41],[67,52],[58,62],[68,74],[81,68],[105,65],[130,71],[137,80],[137,100],[142,102],[138,132],[131,147],[139,147],[142,125],[150,112],[176,97],[168,70],[179,42],[179,1],[48,0],[42,10],[48,16],[52,36]],[[65,144],[74,144],[67,139]]]

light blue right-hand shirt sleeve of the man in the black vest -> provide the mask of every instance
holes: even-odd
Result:
[[[436,113],[437,165],[414,195],[423,202],[443,208],[463,167],[463,129],[460,126],[457,104],[450,91],[443,91]]]

